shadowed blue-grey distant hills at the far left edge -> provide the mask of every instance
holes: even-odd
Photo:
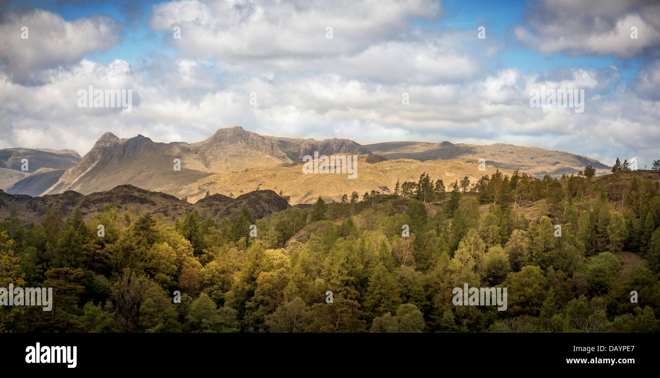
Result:
[[[23,159],[27,159],[28,170],[23,171]],[[65,169],[71,168],[81,161],[81,156],[70,149],[30,149],[30,148],[7,148],[0,149],[0,189],[10,190],[20,180],[30,180],[18,184],[12,192],[20,194],[25,188],[32,194],[41,194],[59,179]],[[49,174],[44,174],[48,170]],[[56,171],[53,171],[56,170]],[[58,175],[59,174],[59,175]],[[33,177],[37,175],[36,177]]]

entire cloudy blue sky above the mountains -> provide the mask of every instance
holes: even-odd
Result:
[[[659,56],[658,1],[0,0],[0,148],[242,126],[643,168],[660,159]],[[132,111],[80,108],[89,85],[131,89]],[[530,106],[542,87],[583,89],[584,111]]]

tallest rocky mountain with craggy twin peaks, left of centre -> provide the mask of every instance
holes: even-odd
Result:
[[[330,155],[366,150],[346,139],[278,139],[240,127],[220,129],[208,139],[192,144],[156,143],[143,135],[119,139],[105,133],[77,165],[42,194],[67,190],[89,194],[131,184],[183,197],[183,186],[205,176],[292,164],[314,151]],[[180,159],[180,171],[174,170],[174,159]]]

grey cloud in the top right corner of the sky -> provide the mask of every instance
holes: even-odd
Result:
[[[636,28],[637,38],[631,38]],[[660,6],[651,0],[543,0],[528,11],[517,39],[546,54],[614,55],[660,52]]]

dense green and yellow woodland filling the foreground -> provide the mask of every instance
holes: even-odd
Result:
[[[448,190],[422,174],[394,194],[219,223],[112,204],[88,222],[15,217],[0,223],[0,287],[53,287],[54,304],[0,307],[0,331],[657,332],[659,182],[594,173]],[[454,306],[465,283],[508,287],[508,309]]]

